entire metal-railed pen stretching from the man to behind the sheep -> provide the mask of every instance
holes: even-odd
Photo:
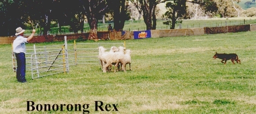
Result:
[[[33,46],[26,49],[26,70],[31,70],[32,79],[68,72],[69,65],[96,64],[99,61],[99,46],[109,51],[111,46],[123,46],[124,43],[76,43],[68,44],[66,36],[64,45]],[[12,46],[13,48],[13,46]],[[12,52],[13,71],[16,71],[17,62]]]

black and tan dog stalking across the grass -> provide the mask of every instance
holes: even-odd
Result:
[[[234,61],[236,61],[236,63],[241,64],[241,61],[238,59],[238,56],[236,55],[236,53],[227,54],[227,53],[217,53],[216,52],[213,58],[214,59],[216,59],[216,58],[222,59],[221,63],[224,63],[223,61],[225,61],[224,64],[226,64],[226,62],[230,59],[233,64],[235,64]]]

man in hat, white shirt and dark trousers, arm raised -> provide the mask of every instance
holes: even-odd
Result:
[[[17,36],[13,42],[13,52],[15,53],[17,60],[16,78],[18,82],[26,83],[25,73],[26,73],[26,45],[34,36],[35,29],[32,30],[32,34],[25,38],[23,37],[23,30],[21,27],[16,29],[15,35]]]

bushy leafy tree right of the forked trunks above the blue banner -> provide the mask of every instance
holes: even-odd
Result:
[[[186,0],[173,0],[166,3],[167,12],[164,14],[170,21],[165,24],[170,24],[170,29],[175,28],[176,23],[181,23],[177,19],[184,18],[186,15]]]

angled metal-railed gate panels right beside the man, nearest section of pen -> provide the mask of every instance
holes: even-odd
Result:
[[[26,70],[31,70],[32,79],[56,73],[65,73],[69,71],[69,64],[75,65],[74,45],[66,42],[66,36],[63,45],[34,45],[33,47],[27,47],[25,55]],[[14,52],[12,53],[12,58],[13,71],[16,71],[17,62]]]

